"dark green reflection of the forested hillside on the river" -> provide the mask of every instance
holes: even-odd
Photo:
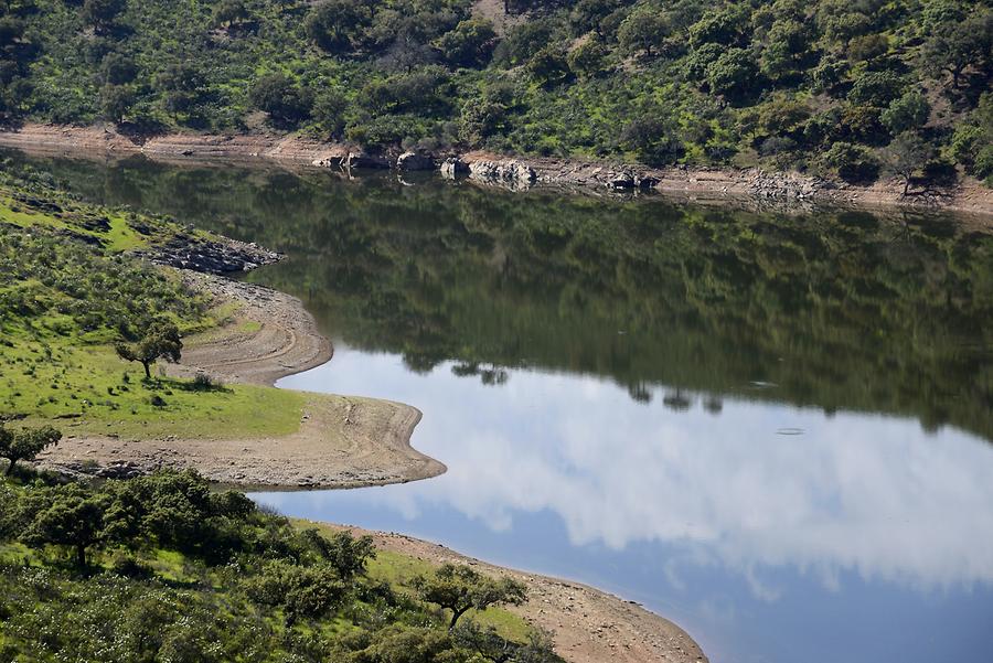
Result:
[[[455,362],[488,383],[511,367],[581,372],[636,398],[662,384],[674,404],[682,388],[900,414],[993,439],[993,236],[953,220],[323,172],[44,168],[92,200],[286,252],[252,278],[303,299],[334,338],[418,371]]]

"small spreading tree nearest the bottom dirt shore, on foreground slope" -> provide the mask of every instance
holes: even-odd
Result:
[[[526,599],[523,582],[512,578],[495,580],[468,566],[455,564],[442,565],[434,577],[417,577],[413,585],[423,601],[451,610],[449,631],[472,608],[485,610],[490,606],[520,606]]]

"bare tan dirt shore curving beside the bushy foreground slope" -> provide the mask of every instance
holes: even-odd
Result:
[[[707,661],[693,639],[673,622],[592,587],[494,566],[445,546],[403,534],[369,532],[376,546],[435,565],[469,564],[491,576],[511,577],[527,586],[528,600],[510,610],[552,633],[555,651],[569,663],[697,663]]]

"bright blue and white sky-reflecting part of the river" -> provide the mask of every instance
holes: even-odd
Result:
[[[415,405],[414,445],[449,468],[255,495],[284,513],[607,589],[676,621],[715,663],[993,652],[993,447],[971,435],[759,402],[750,384],[719,414],[588,376],[511,371],[488,386],[340,341],[280,386]]]

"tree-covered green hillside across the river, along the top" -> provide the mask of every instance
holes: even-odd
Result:
[[[993,175],[989,0],[7,0],[7,120]],[[954,168],[953,168],[954,167]]]

